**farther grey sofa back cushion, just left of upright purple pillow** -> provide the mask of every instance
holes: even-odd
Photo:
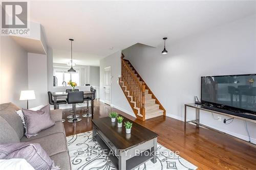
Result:
[[[20,139],[24,136],[24,127],[22,119],[20,119],[16,113],[17,110],[20,110],[20,108],[12,103],[4,103],[0,105],[0,116],[8,122]]]

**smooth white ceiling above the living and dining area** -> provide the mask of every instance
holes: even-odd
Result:
[[[53,61],[99,60],[135,43],[162,45],[255,14],[255,1],[31,1],[30,18],[44,27]],[[113,47],[111,50],[110,48]]]

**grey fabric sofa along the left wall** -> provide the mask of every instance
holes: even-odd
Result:
[[[15,112],[17,110],[20,110],[20,108],[12,103],[0,105],[0,144],[39,143],[55,165],[65,170],[71,169],[65,129],[61,122],[62,110],[51,110],[51,117],[55,125],[29,139],[24,136],[25,129],[22,119]]]

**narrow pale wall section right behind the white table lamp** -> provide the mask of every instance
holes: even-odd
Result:
[[[28,53],[28,86],[36,97],[29,101],[29,107],[48,104],[47,84],[47,56]]]

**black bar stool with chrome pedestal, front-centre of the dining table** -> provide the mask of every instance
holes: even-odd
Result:
[[[76,117],[76,104],[83,103],[83,91],[72,91],[68,93],[68,104],[72,104],[74,108],[74,116],[69,119],[69,123],[80,122],[82,119],[80,117]]]

